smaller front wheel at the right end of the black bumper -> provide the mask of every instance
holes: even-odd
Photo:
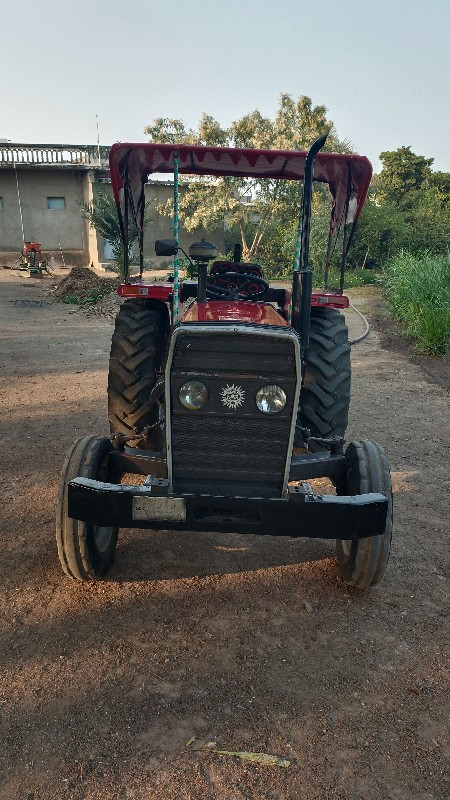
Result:
[[[392,541],[392,486],[386,454],[380,445],[350,442],[347,460],[346,494],[379,492],[389,499],[386,527],[379,536],[367,539],[337,539],[336,555],[345,583],[366,589],[383,577],[389,560]]]

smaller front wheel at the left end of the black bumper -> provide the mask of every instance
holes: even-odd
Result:
[[[71,519],[67,513],[67,492],[73,478],[106,479],[106,461],[112,449],[109,439],[85,436],[69,450],[61,473],[56,517],[56,543],[61,566],[79,581],[102,578],[114,563],[118,528],[92,525]]]

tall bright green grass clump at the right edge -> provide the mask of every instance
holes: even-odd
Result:
[[[389,306],[428,353],[450,350],[450,256],[401,252],[387,264]]]

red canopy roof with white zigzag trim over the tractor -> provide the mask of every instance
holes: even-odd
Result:
[[[173,173],[173,154],[179,154],[182,175],[220,175],[252,178],[302,180],[306,152],[295,150],[251,150],[247,148],[207,147],[188,144],[129,144],[118,142],[111,148],[109,166],[114,197],[123,206],[124,178],[130,181],[131,213],[137,220],[143,199],[143,185],[154,172]],[[314,180],[328,183],[334,198],[333,218],[338,226],[354,224],[363,207],[372,177],[372,166],[365,156],[319,153],[314,162]]]

